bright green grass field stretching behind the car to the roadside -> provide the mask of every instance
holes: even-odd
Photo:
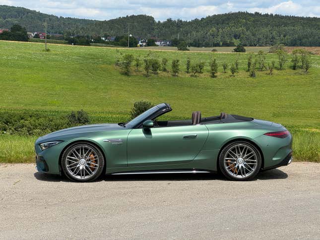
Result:
[[[242,53],[179,51],[140,51],[136,49],[95,48],[70,45],[44,46],[33,43],[0,41],[0,110],[55,112],[83,109],[92,122],[128,119],[135,101],[168,102],[173,107],[170,118],[191,118],[192,111],[202,116],[233,113],[285,125],[294,135],[294,157],[320,162],[320,56],[312,56],[308,74],[290,67],[256,71],[256,78],[246,72],[247,56]],[[188,57],[192,62],[216,58],[219,73],[209,77],[209,66],[197,77],[181,72],[151,74],[134,72],[122,75],[114,63],[122,54],[153,54],[159,59],[181,61],[185,71]],[[235,77],[222,73],[222,62],[229,66],[240,62]],[[277,60],[268,54],[267,62]],[[170,68],[170,64],[168,64]],[[33,161],[35,137],[0,135],[0,162]],[[9,144],[8,144],[9,143]],[[24,155],[25,152],[25,155]],[[10,154],[8,154],[10,153]]]

